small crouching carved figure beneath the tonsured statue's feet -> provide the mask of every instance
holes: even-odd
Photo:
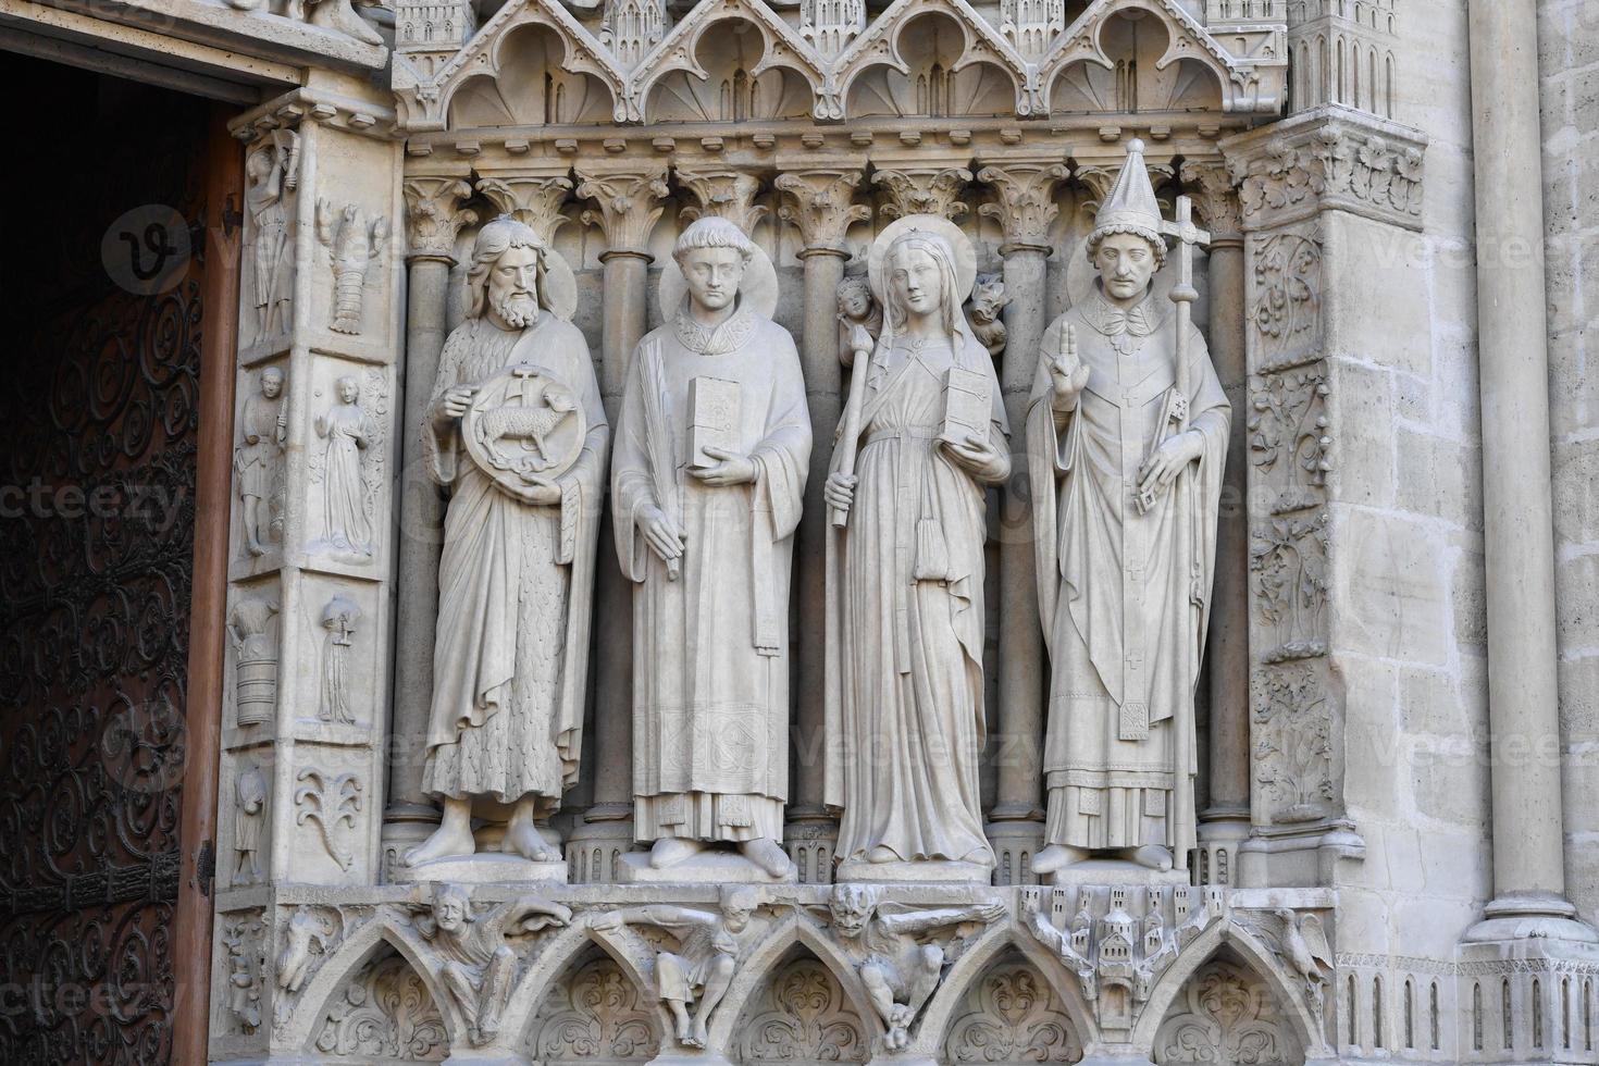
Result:
[[[675,951],[656,954],[656,981],[683,1047],[705,1047],[710,1012],[716,1010],[732,983],[739,959],[766,933],[766,924],[753,919],[761,905],[760,889],[723,885],[720,901],[718,913],[683,906],[625,906],[601,914],[593,924],[598,930],[656,925],[676,938]],[[688,1005],[696,1000],[691,1018]]]

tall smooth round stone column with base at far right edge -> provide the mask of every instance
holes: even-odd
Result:
[[[1493,901],[1466,938],[1593,941],[1565,898],[1538,26],[1519,5],[1468,11]]]

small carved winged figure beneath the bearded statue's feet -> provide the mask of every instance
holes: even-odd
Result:
[[[438,980],[467,1023],[473,1047],[499,1034],[500,1012],[510,997],[516,953],[505,938],[572,921],[571,909],[534,895],[473,914],[470,892],[453,884],[433,884],[432,898],[413,906],[419,911],[417,932],[438,954]]]

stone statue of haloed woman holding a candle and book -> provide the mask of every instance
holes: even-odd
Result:
[[[855,360],[825,489],[833,526],[847,515],[830,540],[827,802],[844,812],[846,863],[961,863],[956,879],[987,882],[985,502],[1011,471],[1009,430],[993,360],[961,313],[971,243],[908,216],[870,264],[886,321],[870,363]]]

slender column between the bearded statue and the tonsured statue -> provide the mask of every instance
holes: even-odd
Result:
[[[614,422],[622,406],[633,347],[644,336],[652,256],[649,232],[665,209],[667,166],[580,168],[577,195],[593,200],[585,225],[606,237],[604,326],[600,345],[600,395]],[[616,561],[611,515],[600,527],[595,617],[604,639],[595,649],[593,804],[572,829],[568,865],[574,881],[612,881],[617,857],[633,845],[633,590]],[[596,630],[598,631],[598,630]]]

